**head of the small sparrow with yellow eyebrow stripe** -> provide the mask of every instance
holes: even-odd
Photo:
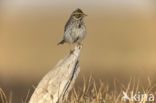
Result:
[[[75,20],[80,20],[81,18],[87,16],[85,13],[83,13],[83,11],[81,9],[76,9],[75,11],[73,11],[72,13],[72,18]]]

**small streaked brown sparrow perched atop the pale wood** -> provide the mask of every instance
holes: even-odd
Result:
[[[84,17],[87,16],[81,9],[77,8],[72,12],[68,21],[64,26],[63,39],[58,43],[64,44],[80,44],[86,37],[86,25],[84,23]]]

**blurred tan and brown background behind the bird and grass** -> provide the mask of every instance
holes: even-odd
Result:
[[[77,8],[88,14],[77,84],[90,74],[110,82],[156,81],[155,0],[1,0],[0,88],[16,94],[14,102],[72,48],[57,43]]]

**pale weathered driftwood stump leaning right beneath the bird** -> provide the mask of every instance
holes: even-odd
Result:
[[[78,58],[82,46],[76,46],[47,73],[38,84],[29,103],[62,103],[72,88],[80,68]]]

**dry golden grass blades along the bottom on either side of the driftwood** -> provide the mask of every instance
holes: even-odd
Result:
[[[122,99],[122,92],[125,91],[130,97],[131,92],[134,94],[140,92],[140,94],[154,94],[156,95],[156,85],[152,83],[150,77],[147,77],[147,84],[141,85],[141,81],[136,78],[130,78],[129,83],[124,85],[119,80],[114,79],[113,85],[105,83],[101,80],[97,83],[92,76],[88,79],[83,79],[83,88],[76,86],[68,95],[64,103],[155,103],[146,102],[145,100],[141,102],[134,102]],[[28,93],[29,95],[29,93]],[[28,102],[28,95],[25,101]],[[2,103],[12,103],[7,99],[4,91],[0,88],[0,102]],[[145,97],[144,97],[145,98]],[[8,102],[9,101],[9,102]]]

